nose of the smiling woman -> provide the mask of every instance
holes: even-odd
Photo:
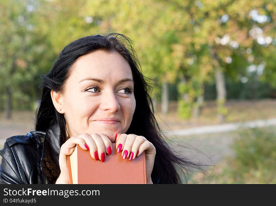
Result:
[[[111,113],[115,113],[120,109],[120,104],[117,101],[116,94],[114,92],[108,92],[102,96],[100,108],[102,110],[110,110]]]

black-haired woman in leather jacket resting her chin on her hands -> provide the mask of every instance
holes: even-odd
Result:
[[[1,183],[68,184],[66,155],[76,144],[104,162],[113,142],[126,161],[145,151],[147,183],[181,182],[177,166],[192,163],[175,156],[162,140],[150,86],[127,37],[75,40],[42,78],[35,131],[7,139]]]

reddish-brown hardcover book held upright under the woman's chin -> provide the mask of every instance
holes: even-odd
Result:
[[[112,143],[112,154],[106,155],[104,162],[96,161],[77,145],[67,156],[70,184],[146,184],[145,152],[134,160],[124,160],[115,145]]]

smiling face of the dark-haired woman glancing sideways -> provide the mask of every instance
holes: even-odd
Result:
[[[114,142],[118,130],[129,129],[136,106],[134,82],[128,62],[117,51],[96,50],[80,57],[64,89],[62,110],[57,110],[64,113],[70,137],[103,133]]]

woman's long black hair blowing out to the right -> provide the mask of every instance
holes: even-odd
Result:
[[[68,138],[64,114],[56,111],[51,99],[51,90],[63,91],[65,82],[72,72],[72,65],[77,59],[95,50],[115,50],[119,52],[130,65],[134,80],[134,95],[136,108],[127,134],[137,134],[146,137],[156,148],[151,178],[153,183],[179,184],[179,172],[188,172],[188,167],[198,165],[177,156],[166,142],[154,116],[154,108],[149,95],[152,89],[146,77],[142,75],[141,65],[137,59],[131,40],[123,34],[93,35],[80,38],[67,45],[57,58],[50,73],[41,75],[42,98],[36,115],[35,129],[46,131],[50,126],[58,124],[61,131],[62,144]]]

